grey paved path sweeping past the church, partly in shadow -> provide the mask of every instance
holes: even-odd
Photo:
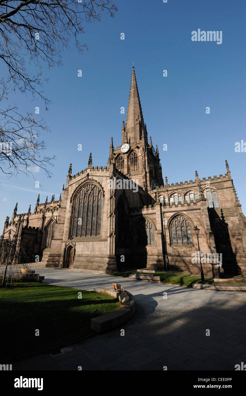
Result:
[[[136,313],[114,331],[71,344],[57,356],[14,362],[15,370],[235,370],[235,364],[246,363],[244,292],[142,282],[100,271],[36,272],[45,275],[44,283],[85,290],[117,282],[134,295]]]

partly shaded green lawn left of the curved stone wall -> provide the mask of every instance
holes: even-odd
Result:
[[[81,299],[78,299],[81,292]],[[101,299],[101,298],[104,299]],[[62,346],[91,333],[91,319],[120,307],[106,294],[38,282],[0,288],[1,358]],[[103,311],[103,312],[97,312]],[[35,336],[39,329],[39,336]]]

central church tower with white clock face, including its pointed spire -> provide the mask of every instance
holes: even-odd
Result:
[[[123,121],[121,128],[121,146],[114,149],[111,139],[108,165],[112,162],[120,172],[138,181],[138,185],[148,191],[157,185],[163,185],[158,148],[153,147],[151,137],[148,143],[134,67],[132,67],[127,119],[126,123]]]

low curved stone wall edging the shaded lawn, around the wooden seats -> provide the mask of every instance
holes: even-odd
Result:
[[[108,294],[115,298],[118,298],[121,294],[115,290],[109,289],[93,289],[93,291],[97,291],[97,293]],[[135,299],[134,296],[129,293],[129,291],[127,291],[127,294],[129,295],[130,300],[133,302],[131,308],[121,307],[113,312],[110,312],[109,314],[91,319],[91,329],[97,331],[98,333],[102,333],[102,331],[110,330],[113,327],[119,326],[121,323],[130,319],[135,312]]]

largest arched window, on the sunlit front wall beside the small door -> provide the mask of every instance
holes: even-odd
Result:
[[[74,198],[71,236],[100,235],[102,191],[93,184],[84,185]]]

